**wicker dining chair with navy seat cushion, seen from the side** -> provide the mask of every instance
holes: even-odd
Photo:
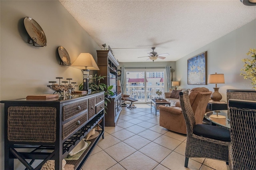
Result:
[[[180,92],[180,105],[187,128],[184,166],[186,168],[188,167],[188,158],[191,157],[223,160],[228,164],[228,146],[230,145],[229,130],[212,125],[196,125],[188,91]]]

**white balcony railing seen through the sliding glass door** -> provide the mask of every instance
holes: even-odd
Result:
[[[156,91],[162,91],[162,95],[158,96]],[[130,95],[131,98],[137,99],[138,102],[145,103],[150,102],[150,99],[156,97],[164,97],[164,86],[126,86],[126,94]]]

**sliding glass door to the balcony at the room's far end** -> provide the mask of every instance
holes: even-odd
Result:
[[[126,69],[125,72],[126,94],[138,99],[138,103],[149,103],[150,99],[158,97],[156,91],[162,91],[164,94],[165,69]]]

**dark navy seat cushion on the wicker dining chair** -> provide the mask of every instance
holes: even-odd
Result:
[[[193,132],[198,136],[230,142],[230,131],[223,127],[197,124]]]

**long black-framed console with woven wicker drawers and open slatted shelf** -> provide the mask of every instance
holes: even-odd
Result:
[[[54,160],[55,169],[61,170],[62,160],[98,125],[99,136],[90,140],[82,156],[66,161],[79,170],[100,137],[104,138],[104,92],[68,99],[60,97],[54,101],[18,99],[1,103],[4,103],[5,114],[5,170],[14,169],[14,159],[28,169],[40,169],[46,161]],[[27,162],[28,159],[31,161]],[[33,165],[35,160],[42,162]]]

